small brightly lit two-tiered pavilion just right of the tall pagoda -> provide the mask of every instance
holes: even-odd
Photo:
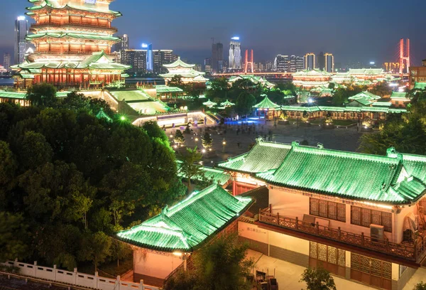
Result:
[[[164,68],[168,70],[168,73],[160,75],[165,80],[166,85],[172,80],[172,77],[180,75],[183,83],[193,83],[197,87],[205,87],[207,78],[204,77],[204,73],[194,70],[195,65],[190,65],[188,63],[180,60],[176,60],[174,63],[168,65],[163,65]]]

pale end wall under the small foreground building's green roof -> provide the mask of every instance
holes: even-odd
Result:
[[[141,248],[133,250],[133,271],[137,274],[165,279],[182,262],[182,257],[172,253],[149,252]]]

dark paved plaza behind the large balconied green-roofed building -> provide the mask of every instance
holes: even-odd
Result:
[[[167,129],[166,134],[174,134],[175,129]],[[185,127],[182,127],[185,129]],[[201,136],[206,129],[204,126],[194,127],[192,134],[185,134],[185,145],[193,148],[202,148]],[[283,125],[273,122],[265,122],[264,119],[247,119],[243,122],[227,122],[219,129],[219,126],[208,127],[207,131],[212,134],[213,148],[216,156],[204,159],[204,165],[212,166],[219,161],[224,161],[232,156],[237,156],[249,151],[251,144],[258,136],[263,139],[291,143],[292,141],[306,140],[310,146],[322,143],[324,148],[345,151],[356,151],[359,146],[359,138],[364,133],[357,127],[341,127],[335,129],[322,129],[317,124],[310,127],[297,127],[295,122]],[[272,134],[271,134],[272,133]],[[196,141],[198,138],[198,141]],[[225,145],[223,145],[225,142]]]

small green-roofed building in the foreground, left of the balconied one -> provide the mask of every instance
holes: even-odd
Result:
[[[177,269],[187,269],[191,255],[214,237],[237,232],[237,219],[254,202],[232,196],[214,184],[116,238],[134,246],[133,279],[163,286]]]

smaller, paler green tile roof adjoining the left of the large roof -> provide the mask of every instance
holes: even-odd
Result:
[[[219,168],[244,173],[257,173],[278,168],[291,149],[290,144],[258,140],[249,153],[218,164]]]

